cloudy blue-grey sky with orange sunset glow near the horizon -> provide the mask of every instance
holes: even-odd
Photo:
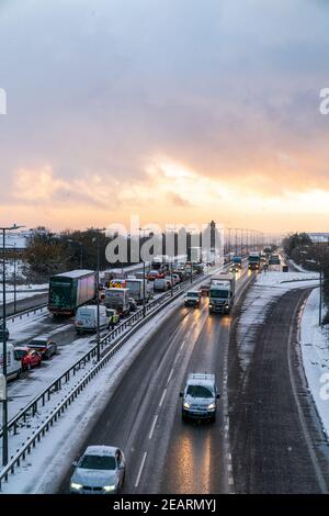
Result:
[[[0,0],[1,225],[329,231],[328,57],[327,0]]]

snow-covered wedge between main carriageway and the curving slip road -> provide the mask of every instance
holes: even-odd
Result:
[[[318,284],[317,272],[261,272],[250,287],[237,328],[240,366],[246,371],[254,350],[256,334],[264,324],[271,306],[291,289]]]

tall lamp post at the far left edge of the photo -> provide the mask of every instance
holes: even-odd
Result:
[[[2,232],[2,372],[4,377],[4,381],[7,378],[7,324],[5,324],[5,232],[20,229],[25,226],[3,226],[0,227]],[[5,465],[8,463],[8,400],[2,401],[2,464]]]

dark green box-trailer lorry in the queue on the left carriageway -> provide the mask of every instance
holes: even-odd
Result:
[[[75,315],[77,309],[97,295],[93,270],[71,270],[49,279],[48,311],[54,315]]]

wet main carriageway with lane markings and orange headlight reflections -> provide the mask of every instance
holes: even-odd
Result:
[[[238,279],[238,292],[252,274]],[[183,305],[150,335],[86,438],[116,445],[127,459],[125,493],[227,493],[229,475],[222,417],[214,424],[181,420],[180,391],[189,372],[213,372],[223,393],[231,316],[208,316]],[[219,401],[223,412],[224,395]],[[60,492],[68,492],[71,469]]]

